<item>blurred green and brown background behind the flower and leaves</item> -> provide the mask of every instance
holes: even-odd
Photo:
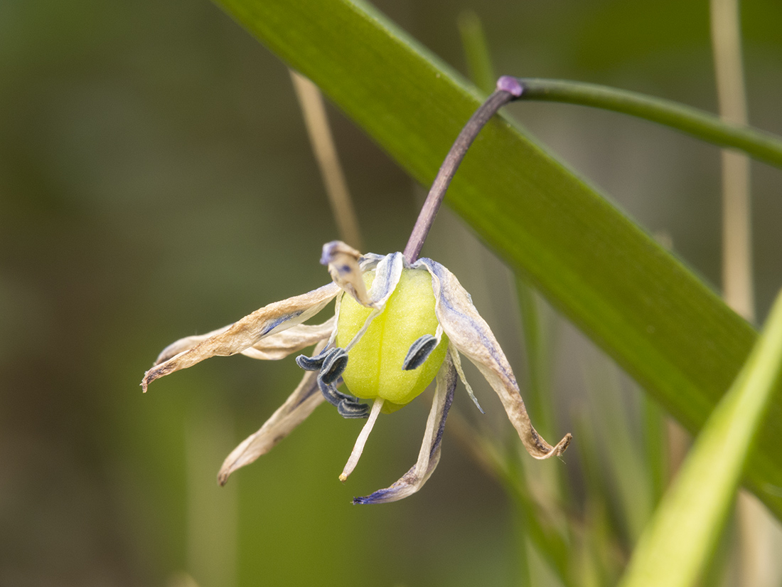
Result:
[[[465,75],[458,20],[472,10],[498,73],[716,111],[708,2],[375,4]],[[750,121],[782,134],[782,5],[745,2],[742,23]],[[719,149],[577,106],[507,110],[720,283]],[[400,250],[425,188],[328,113],[366,249]],[[752,165],[759,321],[782,275],[780,185],[779,170]],[[224,456],[300,379],[292,359],[216,358],[142,395],[145,369],[173,340],[326,283],[320,247],[337,237],[288,70],[210,2],[0,2],[0,585],[558,585],[504,484],[464,448],[462,418],[500,445],[512,438],[475,373],[486,416],[460,387],[461,432],[447,432],[436,474],[388,506],[350,499],[414,463],[427,400],[378,421],[346,484],[337,476],[361,422],[324,407],[218,488]],[[447,211],[424,253],[459,276],[525,380],[511,275]],[[599,448],[605,411],[619,405],[632,436],[648,402],[541,312],[549,434],[570,430],[575,447],[587,427]],[[594,481],[582,457],[571,448],[565,464],[540,463],[567,475],[578,506]],[[637,491],[633,475],[644,472],[628,470],[617,484],[630,485],[604,498],[605,520],[623,528],[606,550],[614,566],[654,501],[639,498],[640,522],[612,510]]]

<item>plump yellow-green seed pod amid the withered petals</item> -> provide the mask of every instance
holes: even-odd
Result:
[[[375,272],[364,274],[367,290],[373,279]],[[371,308],[343,295],[337,324],[340,347],[353,340],[370,312]],[[418,369],[403,371],[402,362],[411,344],[425,334],[434,335],[436,330],[431,275],[421,269],[404,269],[386,309],[348,353],[343,379],[350,393],[362,399],[385,399],[384,412],[393,412],[411,402],[432,382],[443,364],[448,337],[443,334],[440,344]]]

